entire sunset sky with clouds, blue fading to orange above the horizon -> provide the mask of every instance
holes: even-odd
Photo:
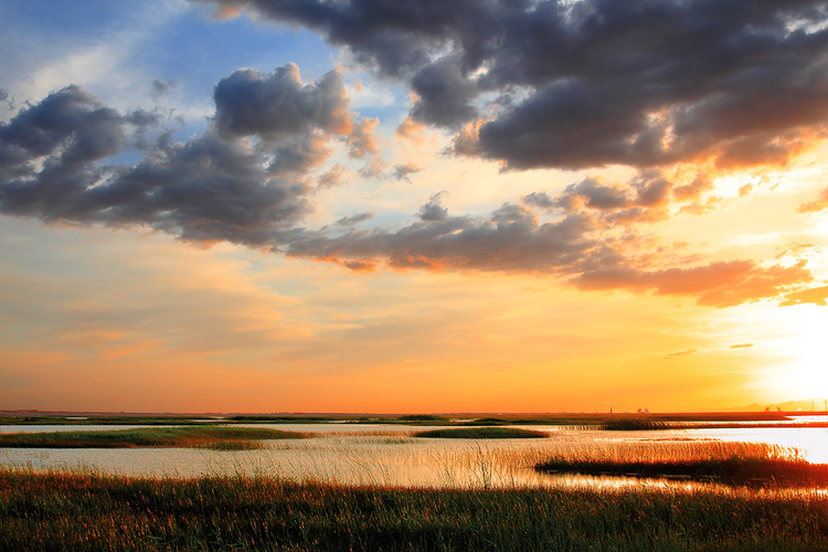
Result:
[[[0,3],[0,410],[828,397],[828,2]]]

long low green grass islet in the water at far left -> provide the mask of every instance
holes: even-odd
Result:
[[[296,439],[307,435],[264,427],[183,426],[140,427],[103,432],[0,434],[0,447],[14,448],[136,448],[177,447],[246,450],[266,439]]]

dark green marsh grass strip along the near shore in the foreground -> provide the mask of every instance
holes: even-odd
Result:
[[[0,550],[826,550],[828,499],[0,471]]]

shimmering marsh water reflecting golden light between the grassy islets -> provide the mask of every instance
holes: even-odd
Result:
[[[807,422],[807,420],[798,420]],[[243,424],[242,424],[243,425]],[[2,433],[125,429],[113,425],[7,425]],[[236,475],[282,477],[344,485],[406,487],[590,487],[692,488],[670,479],[546,475],[532,466],[551,455],[595,450],[617,458],[673,452],[699,444],[775,445],[807,461],[828,464],[828,429],[816,427],[740,427],[606,432],[565,426],[532,426],[542,439],[433,439],[414,437],[422,426],[370,424],[256,424],[312,434],[307,439],[265,442],[265,448],[216,452],[190,448],[0,448],[0,465],[34,469],[81,469],[151,477]],[[434,427],[428,427],[434,428]],[[796,453],[794,453],[796,450]]]

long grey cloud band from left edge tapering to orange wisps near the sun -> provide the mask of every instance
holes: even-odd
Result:
[[[0,212],[46,222],[146,226],[184,241],[226,241],[358,272],[384,265],[549,274],[581,289],[689,296],[715,307],[789,294],[813,279],[804,261],[788,267],[732,261],[677,268],[667,258],[665,267],[652,255],[628,255],[644,243],[625,226],[629,221],[657,220],[671,201],[699,200],[705,185],[686,184],[696,185],[686,193],[654,170],[624,184],[584,179],[554,198],[535,192],[487,216],[453,215],[440,192],[407,225],[360,229],[369,216],[363,213],[333,227],[305,229],[304,217],[312,211],[306,180],[325,160],[327,140],[346,140],[350,157],[367,160],[363,171],[376,174],[373,169],[382,162],[378,120],[351,123],[342,91],[337,71],[305,85],[294,65],[269,76],[240,70],[216,85],[211,127],[173,142],[157,131],[151,114],[120,114],[77,86],[66,87],[0,126]],[[157,135],[141,141],[140,161],[107,164],[130,136],[149,128]],[[397,167],[401,174],[412,169]],[[319,188],[335,185],[342,171],[341,166],[329,169]],[[541,222],[540,211],[559,216]]]

